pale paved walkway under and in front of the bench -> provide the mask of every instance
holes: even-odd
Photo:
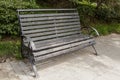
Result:
[[[120,35],[96,39],[99,56],[91,47],[41,62],[39,78],[23,61],[0,64],[0,80],[120,80]]]

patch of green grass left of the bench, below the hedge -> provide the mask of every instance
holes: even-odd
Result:
[[[0,57],[15,57],[21,59],[20,41],[1,41]]]

